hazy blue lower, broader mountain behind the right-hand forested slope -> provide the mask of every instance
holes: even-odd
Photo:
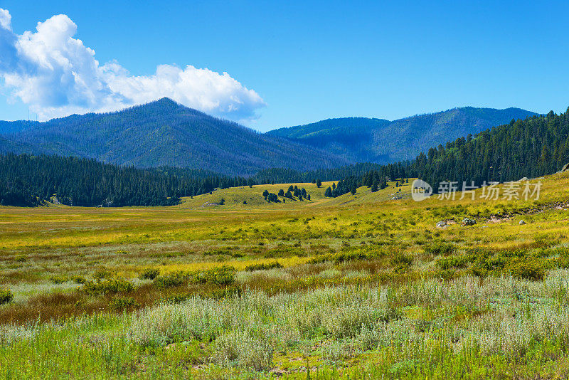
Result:
[[[519,108],[463,107],[393,122],[365,117],[329,119],[267,134],[324,149],[351,162],[387,164],[414,159],[438,144],[534,115]]]

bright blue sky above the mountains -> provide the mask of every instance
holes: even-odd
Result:
[[[73,38],[95,51],[100,65],[120,65],[112,79],[91,82],[85,74],[87,88],[102,86],[89,95],[97,100],[66,97],[65,86],[54,95],[53,76],[41,82],[51,87],[39,95],[23,87],[31,72],[13,79],[28,104],[14,95],[14,83],[5,83],[0,119],[26,118],[28,107],[46,118],[143,102],[147,97],[136,94],[143,82],[154,86],[147,96],[164,95],[166,85],[153,76],[159,65],[179,68],[174,76],[187,74],[174,85],[188,105],[261,131],[328,117],[393,120],[466,105],[536,112],[565,112],[569,105],[568,1],[86,3],[0,1],[14,36],[65,14],[77,27]],[[69,23],[57,21],[55,28]],[[0,53],[2,60],[6,53]],[[193,68],[186,71],[187,65]],[[208,79],[196,85],[204,73]],[[207,83],[225,87],[211,93]]]

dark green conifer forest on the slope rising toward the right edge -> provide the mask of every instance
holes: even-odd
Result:
[[[463,181],[481,186],[484,181],[516,181],[553,174],[569,162],[569,108],[555,115],[512,120],[509,124],[459,137],[444,146],[421,152],[412,162],[385,165],[365,174],[346,177],[338,184],[337,195],[358,186],[373,186],[385,176],[390,179],[418,177],[436,192],[442,181]]]

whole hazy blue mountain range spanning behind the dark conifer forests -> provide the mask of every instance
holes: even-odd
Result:
[[[464,107],[393,122],[329,119],[260,134],[163,98],[119,112],[0,122],[0,154],[58,154],[247,176],[276,167],[309,171],[414,159],[438,144],[533,115],[519,108]]]

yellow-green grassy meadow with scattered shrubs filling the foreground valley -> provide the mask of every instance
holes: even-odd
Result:
[[[566,379],[569,175],[541,181],[538,201],[392,182],[0,207],[0,376]]]

